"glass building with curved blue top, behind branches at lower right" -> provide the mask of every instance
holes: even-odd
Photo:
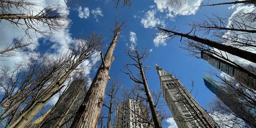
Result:
[[[239,99],[237,96],[231,96],[229,93],[230,90],[228,90],[228,87],[225,86],[225,84],[220,84],[207,75],[204,75],[204,84],[212,93],[221,99],[221,101],[227,105],[237,117],[243,119],[247,124],[248,122],[254,122],[256,124],[255,118],[248,118],[256,117],[256,109],[244,106],[246,102],[244,103],[243,100]]]

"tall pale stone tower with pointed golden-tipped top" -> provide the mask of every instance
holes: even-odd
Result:
[[[163,97],[179,128],[219,128],[181,82],[157,66]]]

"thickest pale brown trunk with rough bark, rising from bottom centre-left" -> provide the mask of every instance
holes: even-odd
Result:
[[[122,23],[123,24],[123,23]],[[96,76],[84,98],[83,103],[80,105],[71,128],[96,128],[97,121],[103,104],[105,88],[110,77],[108,76],[111,64],[114,60],[113,51],[116,47],[117,37],[121,31],[122,24],[119,26],[116,23],[113,40],[108,47],[108,50],[100,65]]]

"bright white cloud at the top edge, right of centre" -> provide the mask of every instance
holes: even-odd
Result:
[[[180,6],[169,5],[169,0],[154,0],[157,9],[160,12],[167,12],[167,17],[175,17],[176,15],[195,15],[199,9],[202,0],[180,0]]]

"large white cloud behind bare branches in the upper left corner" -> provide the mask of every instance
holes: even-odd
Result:
[[[35,1],[32,1],[32,2],[37,3],[36,6],[33,6],[34,8],[32,11],[34,15],[36,15],[36,13],[38,13],[40,10],[56,4],[58,4],[58,8],[61,8],[61,10],[58,10],[59,12],[67,15],[69,14],[67,4],[64,2],[64,0],[37,0],[36,2]],[[16,8],[13,8],[12,10],[17,12]],[[26,12],[23,12],[23,13],[26,13]],[[34,44],[29,46],[29,49],[31,50],[35,50],[38,48],[38,46],[40,46],[38,42],[39,38],[43,38],[46,40],[54,39],[53,45],[57,45],[57,44],[66,45],[66,43],[69,44],[70,41],[72,40],[72,38],[70,37],[70,33],[68,31],[70,20],[61,21],[61,22],[65,24],[64,29],[59,29],[58,31],[52,31],[51,35],[35,34],[34,30],[29,29],[28,32],[31,38],[28,38],[28,36],[26,36],[25,30],[23,29],[23,28],[26,28],[26,26],[17,27],[11,24],[9,21],[1,20],[0,47],[2,48],[6,47],[8,44],[10,44],[13,41],[13,39],[17,37],[24,37],[23,39],[25,41],[33,41]],[[23,20],[20,20],[20,23],[23,23]],[[43,26],[42,23],[39,24],[38,27],[41,31],[49,32],[49,28],[47,26]],[[69,40],[67,40],[67,38],[69,38]],[[56,47],[56,51],[60,51],[60,49],[58,48],[62,48],[62,47]],[[0,60],[4,60],[4,61],[0,61],[0,65],[8,65],[9,67],[14,67],[15,63],[22,61],[27,57],[27,53],[24,53],[24,52],[15,52],[15,53],[17,55],[15,57],[1,57]]]

